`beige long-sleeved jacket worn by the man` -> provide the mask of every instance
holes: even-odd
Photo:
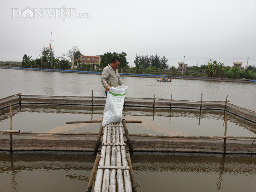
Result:
[[[118,73],[118,70],[114,70],[110,64],[106,66],[101,75],[101,83],[105,88],[106,91],[106,86],[109,85],[110,87],[117,87],[118,85],[123,85],[124,83],[122,82],[122,79]]]

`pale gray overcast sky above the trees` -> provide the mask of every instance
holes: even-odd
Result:
[[[43,18],[18,17],[27,6]],[[56,18],[62,6],[74,18]],[[0,18],[2,61],[39,58],[52,32],[56,56],[78,46],[84,55],[124,51],[131,66],[136,54],[165,55],[176,67],[183,56],[188,66],[210,58],[245,66],[247,57],[256,65],[256,0],[0,0]]]

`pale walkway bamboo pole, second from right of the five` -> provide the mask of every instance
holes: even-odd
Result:
[[[120,143],[119,129],[122,129],[122,128],[116,127],[117,143]],[[121,147],[120,146],[116,146],[116,166],[121,166]],[[123,181],[123,175],[122,175],[121,169],[116,170],[116,178],[117,178],[118,192],[124,192],[124,181]]]

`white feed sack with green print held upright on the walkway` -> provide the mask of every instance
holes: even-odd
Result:
[[[128,86],[111,87],[107,94],[102,126],[122,121],[125,90]]]

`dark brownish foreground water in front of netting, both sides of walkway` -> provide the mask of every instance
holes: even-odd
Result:
[[[0,191],[84,191],[94,154],[0,152]],[[137,190],[242,191],[256,188],[256,156],[135,152]]]

